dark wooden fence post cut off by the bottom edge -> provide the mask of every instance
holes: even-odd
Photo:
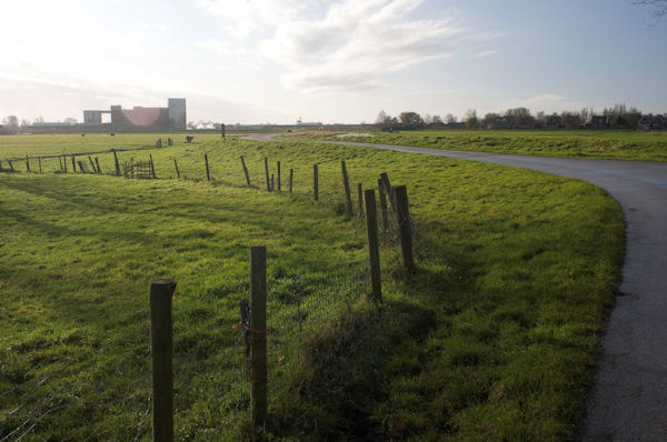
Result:
[[[153,441],[173,441],[173,369],[171,297],[176,282],[150,283]]]

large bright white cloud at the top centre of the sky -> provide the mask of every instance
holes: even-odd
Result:
[[[285,69],[286,87],[307,92],[377,88],[388,72],[451,57],[458,39],[469,38],[469,32],[447,18],[411,18],[422,2],[325,1],[318,3],[325,7],[319,19],[312,19],[308,6],[313,2],[307,1],[248,0],[232,6],[197,0],[232,21],[240,34],[260,24],[272,27],[270,37],[259,43],[259,53]]]

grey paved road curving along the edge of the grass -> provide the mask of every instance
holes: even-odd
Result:
[[[248,139],[275,141],[272,137]],[[667,163],[327,143],[532,169],[588,181],[614,197],[626,220],[626,259],[579,438],[667,441]]]

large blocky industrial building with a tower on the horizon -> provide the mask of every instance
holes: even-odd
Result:
[[[102,123],[102,114],[111,115],[111,123]],[[111,130],[167,130],[186,129],[186,99],[170,98],[167,108],[142,108],[136,106],[132,109],[122,109],[112,106],[110,110],[84,110],[83,125],[96,127],[109,124]]]

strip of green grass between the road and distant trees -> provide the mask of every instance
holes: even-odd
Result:
[[[667,131],[419,130],[396,133],[371,132],[371,137],[341,138],[339,137],[341,134],[341,132],[310,132],[282,137],[526,155],[667,161]]]

